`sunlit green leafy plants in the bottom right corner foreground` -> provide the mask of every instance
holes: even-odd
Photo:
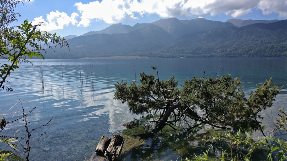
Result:
[[[272,131],[275,132],[276,130],[283,130],[287,131],[287,112],[283,110],[279,110],[280,120],[277,120],[277,127]],[[270,132],[271,133],[271,132]],[[222,149],[222,156],[218,158],[213,158],[208,156],[209,150],[206,150],[206,153],[199,156],[194,156],[192,159],[186,158],[187,161],[189,160],[251,160],[251,156],[253,152],[257,149],[261,149],[261,155],[266,156],[264,160],[269,161],[284,161],[287,160],[287,141],[283,140],[282,138],[276,138],[272,135],[264,136],[259,138],[255,141],[250,132],[245,132],[241,134],[241,132],[237,132],[235,135],[232,135],[226,131],[225,136],[215,135],[207,140],[206,142],[212,142],[217,140],[224,140],[226,143],[229,144],[230,149]],[[233,152],[232,150],[235,150]],[[229,151],[229,152],[228,152]],[[243,151],[247,153],[243,153]],[[266,154],[266,155],[265,155]]]

